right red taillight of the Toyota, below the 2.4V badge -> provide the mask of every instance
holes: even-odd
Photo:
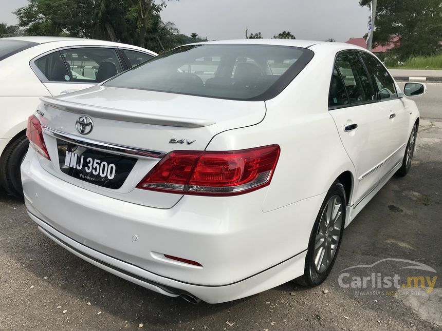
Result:
[[[199,196],[232,196],[270,184],[280,154],[278,145],[237,151],[173,151],[138,188]]]

